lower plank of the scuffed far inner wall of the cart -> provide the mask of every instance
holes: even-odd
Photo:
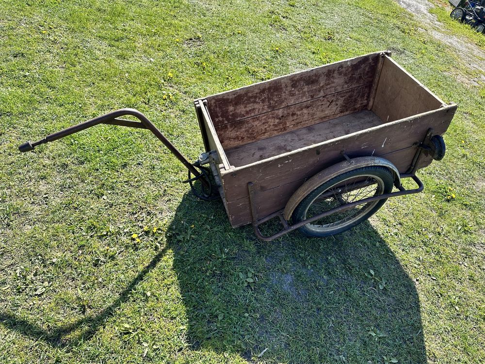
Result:
[[[225,149],[301,129],[367,108],[372,83],[311,99],[236,122],[216,130]]]

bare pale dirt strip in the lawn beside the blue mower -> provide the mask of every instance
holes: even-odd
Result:
[[[485,51],[468,39],[458,37],[452,33],[443,30],[443,25],[438,21],[436,15],[431,14],[429,10],[435,5],[428,0],[396,0],[404,9],[413,13],[420,21],[428,25],[427,32],[434,38],[456,50],[456,55],[466,66],[471,69],[483,71],[485,69]],[[451,7],[450,7],[451,11]],[[476,85],[476,80],[464,80],[461,77],[459,81]]]

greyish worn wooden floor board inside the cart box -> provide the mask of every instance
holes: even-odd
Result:
[[[381,119],[372,111],[359,111],[227,149],[226,156],[231,165],[240,167],[381,124]]]

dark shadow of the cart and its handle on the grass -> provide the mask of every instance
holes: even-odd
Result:
[[[186,194],[166,247],[100,314],[54,331],[10,314],[0,313],[0,322],[56,347],[86,342],[168,248],[192,349],[248,360],[267,349],[263,359],[293,363],[426,362],[414,283],[368,222],[336,237],[307,239],[293,232],[268,243],[251,228],[232,230],[226,221],[221,202]]]

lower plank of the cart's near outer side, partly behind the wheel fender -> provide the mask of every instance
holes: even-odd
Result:
[[[398,168],[401,173],[404,173],[411,165],[416,150],[416,147],[409,147],[406,149],[401,149],[398,151],[390,152],[388,154],[384,154],[382,155],[382,157],[388,159]],[[429,165],[432,160],[433,159],[430,156],[423,156],[420,160],[420,168]],[[336,163],[338,163],[338,161]],[[327,166],[330,165],[326,165],[325,167]],[[308,178],[310,177],[311,176],[309,176]],[[256,201],[258,217],[262,218],[264,216],[274,213],[275,211],[283,209],[287,201],[290,199],[291,195],[293,195],[293,193],[306,180],[307,179],[301,179],[275,188],[270,188],[268,190],[261,190],[257,186]],[[229,202],[227,205],[227,211],[229,211],[229,221],[231,223],[231,226],[233,227],[243,226],[252,222],[249,197],[244,197],[242,199]]]

